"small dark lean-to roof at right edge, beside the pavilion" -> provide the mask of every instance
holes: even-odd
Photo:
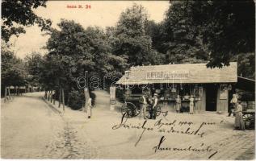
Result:
[[[237,87],[237,89],[243,89],[243,90],[246,90],[246,91],[254,92],[254,90],[255,90],[255,80],[245,78],[245,77],[242,77],[242,76],[238,76],[236,87]]]

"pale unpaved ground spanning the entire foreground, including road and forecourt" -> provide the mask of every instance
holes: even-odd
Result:
[[[86,118],[82,111],[61,108],[44,101],[43,93],[27,93],[2,104],[2,144],[4,159],[253,159],[254,130],[233,130],[233,117],[226,114],[175,114],[169,112],[157,120],[148,120],[142,134],[144,120],[129,118],[125,123],[130,128],[119,126],[121,114],[118,109],[111,111],[109,95],[94,91],[96,95],[92,118]],[[163,109],[164,110],[164,109]],[[156,122],[176,122],[174,129],[185,131],[189,125],[198,129],[202,122],[208,122],[199,130],[202,136],[194,134],[167,133],[168,125],[156,126]],[[210,125],[210,123],[212,123]],[[166,129],[159,132],[159,129]],[[142,137],[141,137],[142,134]],[[164,136],[162,147],[207,148],[212,151],[157,151],[153,147]],[[141,137],[140,141],[138,139]],[[137,142],[137,144],[136,144]]]

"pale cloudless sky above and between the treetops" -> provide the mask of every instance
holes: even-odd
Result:
[[[35,10],[36,14],[52,20],[52,27],[57,27],[61,19],[74,20],[83,27],[115,26],[120,13],[133,3],[141,4],[149,14],[149,19],[156,23],[164,19],[164,14],[168,10],[169,1],[48,1],[47,7],[39,7]],[[79,6],[83,8],[68,8],[67,6]],[[86,9],[86,5],[90,9]],[[47,52],[42,49],[45,46],[49,36],[43,35],[40,27],[25,27],[26,34],[11,37],[10,43],[13,44],[12,50],[19,58],[24,58],[31,52]]]

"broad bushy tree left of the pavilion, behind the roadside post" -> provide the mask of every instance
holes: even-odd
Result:
[[[90,77],[95,75],[116,73],[119,71],[114,72],[115,68],[124,66],[126,60],[124,57],[111,54],[107,35],[99,27],[87,27],[85,30],[80,24],[65,19],[61,20],[58,27],[60,30],[52,30],[47,43],[48,56],[53,56],[59,62],[58,72],[51,75],[51,79],[57,80],[54,85],[65,89],[65,97],[68,97],[69,104],[69,97],[81,96],[75,92],[78,90],[78,76],[84,76],[88,71],[90,81]],[[82,93],[81,90],[79,92]],[[87,101],[89,92],[85,90],[86,99],[81,100]]]

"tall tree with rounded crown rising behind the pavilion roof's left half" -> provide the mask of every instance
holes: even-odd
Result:
[[[153,51],[152,40],[145,34],[148,15],[143,6],[134,4],[121,13],[115,28],[115,43],[112,43],[116,56],[128,56],[128,64],[159,64]]]

